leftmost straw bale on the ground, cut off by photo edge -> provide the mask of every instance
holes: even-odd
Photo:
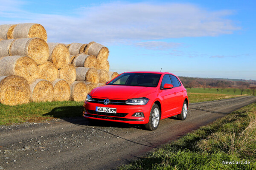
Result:
[[[4,105],[29,103],[29,84],[23,77],[0,76],[0,102]]]

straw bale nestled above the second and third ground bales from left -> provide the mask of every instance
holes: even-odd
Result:
[[[54,67],[52,62],[44,62],[44,64],[38,65],[38,78],[53,82],[58,78],[58,69]]]

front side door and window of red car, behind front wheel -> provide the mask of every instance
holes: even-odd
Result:
[[[175,90],[173,88],[161,89],[166,83],[172,84],[169,74],[163,76],[160,86],[160,96],[162,97],[162,119],[177,112]]]

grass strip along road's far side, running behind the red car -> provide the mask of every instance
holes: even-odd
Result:
[[[191,91],[191,92],[189,92]],[[203,92],[205,93],[203,93]],[[208,93],[207,93],[208,92]],[[188,89],[189,103],[205,102],[237,97],[237,95],[209,93],[208,90]],[[215,92],[216,93],[216,92]],[[68,118],[81,116],[83,102],[31,102],[24,105],[8,106],[0,104],[0,125],[22,122],[40,122],[54,118]]]

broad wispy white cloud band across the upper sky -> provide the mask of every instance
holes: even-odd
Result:
[[[94,40],[112,44],[134,40],[218,36],[233,34],[233,31],[241,29],[232,20],[225,19],[232,11],[207,11],[183,3],[104,3],[70,9],[74,11],[72,17],[66,16],[65,12],[63,15],[19,12],[17,7],[10,6],[6,5],[8,12],[0,11],[1,18],[17,18],[15,21],[20,23],[40,23],[47,29],[49,42]],[[5,22],[0,21],[0,24]]]

